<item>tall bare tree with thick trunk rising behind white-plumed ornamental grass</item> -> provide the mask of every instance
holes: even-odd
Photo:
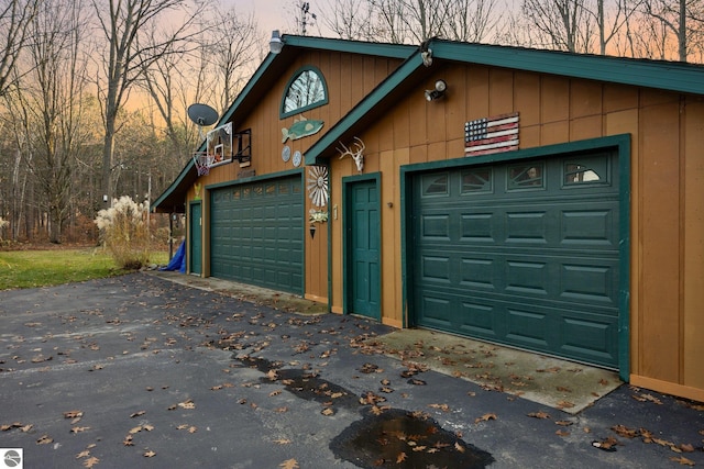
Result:
[[[144,69],[174,51],[174,43],[194,34],[191,27],[204,3],[196,3],[197,9],[191,12],[186,11],[186,0],[92,0],[92,4],[106,40],[105,77],[97,82],[105,123],[102,187],[103,197],[110,201],[113,197],[111,170],[118,112]],[[176,24],[176,27],[165,31],[160,29],[163,24]],[[155,31],[162,32],[161,41],[151,42],[142,49],[140,35],[146,32],[155,37]]]

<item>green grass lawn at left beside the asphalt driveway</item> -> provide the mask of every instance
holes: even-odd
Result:
[[[165,265],[167,253],[152,263]],[[127,273],[99,248],[0,252],[0,290],[45,287]]]

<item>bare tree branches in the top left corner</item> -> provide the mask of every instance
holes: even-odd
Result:
[[[0,96],[19,77],[14,67],[26,45],[28,29],[41,3],[42,0],[0,0]]]

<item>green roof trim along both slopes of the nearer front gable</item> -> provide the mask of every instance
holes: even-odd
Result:
[[[443,40],[429,41],[428,48],[432,51],[433,62],[477,64],[666,91],[704,94],[704,66],[701,65]],[[386,109],[410,89],[418,89],[413,86],[418,83],[421,78],[429,76],[433,66],[425,67],[420,49],[416,51],[417,54],[409,56],[391,76],[305,152],[306,165],[321,163],[320,158],[332,152],[336,142],[351,138],[356,132],[366,127],[372,119],[376,119],[378,115],[376,110]]]

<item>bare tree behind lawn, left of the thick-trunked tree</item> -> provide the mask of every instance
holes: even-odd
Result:
[[[80,46],[86,31],[80,0],[52,1],[40,7],[30,25],[31,72],[19,93],[26,104],[34,159],[29,161],[44,196],[48,237],[61,243],[68,219],[72,170],[84,143],[80,116],[87,85]]]

